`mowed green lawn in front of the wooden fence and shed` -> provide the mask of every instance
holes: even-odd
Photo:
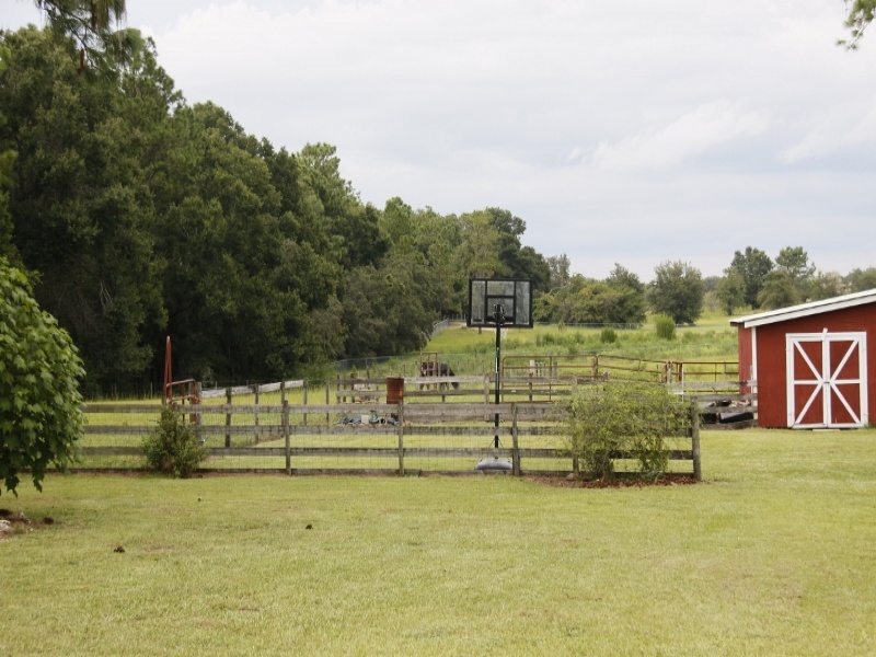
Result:
[[[0,498],[0,655],[876,654],[876,430],[702,449],[622,489],[50,476]]]

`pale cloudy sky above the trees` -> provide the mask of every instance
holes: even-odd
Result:
[[[337,148],[364,203],[526,221],[573,273],[876,266],[876,28],[842,0],[128,0],[189,104]],[[0,0],[0,26],[43,24]]]

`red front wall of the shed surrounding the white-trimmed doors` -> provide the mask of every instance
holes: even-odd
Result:
[[[876,408],[876,303],[872,303],[757,327],[758,424],[760,426],[787,426],[785,335],[788,333],[821,333],[825,328],[829,333],[866,332],[867,404],[871,410]],[[740,366],[741,359],[740,351]]]

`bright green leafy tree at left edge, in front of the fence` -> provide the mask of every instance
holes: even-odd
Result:
[[[27,277],[0,257],[0,479],[15,494],[30,472],[42,491],[46,470],[66,470],[84,426],[73,343],[41,310]],[[2,492],[2,491],[0,491]]]

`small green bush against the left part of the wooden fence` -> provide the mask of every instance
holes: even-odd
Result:
[[[182,479],[191,476],[209,454],[185,415],[170,408],[161,411],[158,427],[143,438],[143,452],[147,468]]]

